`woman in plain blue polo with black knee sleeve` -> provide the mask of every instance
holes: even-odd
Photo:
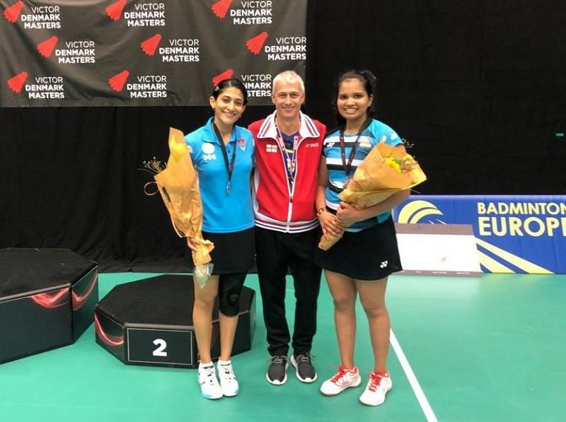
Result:
[[[239,300],[248,269],[255,264],[253,208],[250,177],[253,138],[236,121],[246,110],[248,93],[238,79],[224,79],[209,99],[214,117],[185,136],[199,177],[204,239],[214,242],[214,269],[204,287],[195,284],[192,322],[200,354],[198,380],[202,396],[219,399],[238,394],[238,381],[230,361]],[[194,250],[192,240],[188,246]],[[212,309],[219,296],[220,356],[216,368],[210,355]],[[220,381],[220,382],[219,382]]]

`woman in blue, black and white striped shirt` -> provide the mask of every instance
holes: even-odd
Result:
[[[318,249],[315,255],[333,296],[342,361],[320,392],[333,396],[362,382],[354,363],[355,304],[359,295],[374,351],[374,368],[359,397],[369,406],[382,404],[391,389],[386,368],[390,322],[385,291],[388,275],[401,269],[391,209],[409,196],[408,190],[398,192],[367,209],[355,209],[338,198],[357,166],[382,138],[404,148],[391,127],[370,117],[375,92],[375,76],[369,71],[349,71],[338,78],[335,105],[340,127],[325,138],[316,198],[323,233],[340,235],[345,230],[333,247],[328,251]]]

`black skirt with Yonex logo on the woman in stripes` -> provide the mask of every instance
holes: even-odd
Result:
[[[314,262],[358,280],[379,280],[401,271],[393,218],[359,232],[345,232],[327,251],[317,247]]]

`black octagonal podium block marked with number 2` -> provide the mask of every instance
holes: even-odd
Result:
[[[197,368],[192,276],[165,275],[112,288],[95,307],[96,342],[127,365]],[[244,287],[233,355],[251,348],[255,291]],[[212,358],[220,355],[218,300],[212,315]]]

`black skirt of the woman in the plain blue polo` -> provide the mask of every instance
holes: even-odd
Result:
[[[248,228],[234,233],[202,232],[202,237],[214,243],[210,252],[212,257],[212,274],[247,273],[255,266],[255,235],[254,228]],[[192,257],[190,257],[190,265]]]

